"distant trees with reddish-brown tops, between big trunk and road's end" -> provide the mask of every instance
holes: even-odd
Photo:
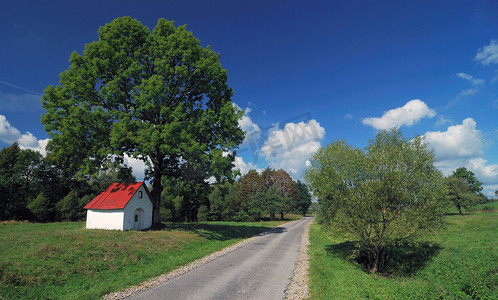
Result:
[[[190,221],[188,211],[192,203],[179,192],[175,185],[166,186],[162,194],[162,220]],[[286,171],[266,168],[261,173],[249,170],[237,181],[213,184],[207,197],[197,205],[199,220],[275,220],[277,215],[283,219],[289,212],[306,214],[311,195],[304,183],[295,182]]]

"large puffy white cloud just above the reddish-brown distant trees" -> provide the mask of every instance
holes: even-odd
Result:
[[[325,129],[316,120],[287,123],[271,130],[261,154],[274,169],[284,169],[294,179],[302,179],[311,154],[320,147]]]

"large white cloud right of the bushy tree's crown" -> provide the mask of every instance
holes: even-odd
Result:
[[[436,152],[438,160],[469,158],[482,155],[481,132],[472,118],[462,124],[448,127],[447,131],[428,131],[424,140]]]

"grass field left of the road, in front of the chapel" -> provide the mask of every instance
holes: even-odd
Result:
[[[166,223],[143,232],[2,222],[0,299],[99,298],[285,222]]]

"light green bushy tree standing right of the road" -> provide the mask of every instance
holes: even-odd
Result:
[[[444,177],[420,137],[380,131],[364,149],[334,141],[311,157],[306,181],[328,224],[359,241],[370,271],[386,248],[436,230],[445,213]]]

